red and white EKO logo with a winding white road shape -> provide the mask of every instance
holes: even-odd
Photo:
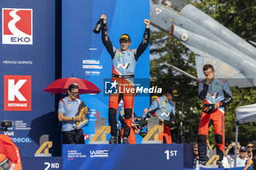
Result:
[[[2,44],[33,45],[32,9],[2,8]]]

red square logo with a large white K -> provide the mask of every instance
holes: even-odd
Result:
[[[4,75],[4,110],[31,111],[31,76]]]

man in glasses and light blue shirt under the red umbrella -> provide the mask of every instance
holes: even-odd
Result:
[[[75,130],[72,125],[83,117],[78,116],[78,107],[81,100],[78,98],[78,84],[69,85],[66,97],[59,101],[58,117],[62,121],[62,143],[63,144],[85,144],[83,129]]]

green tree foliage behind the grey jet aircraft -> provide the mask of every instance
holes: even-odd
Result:
[[[256,37],[256,0],[192,0],[189,3],[206,12],[222,25],[241,36],[246,41],[255,41]],[[256,41],[255,41],[256,42]],[[181,75],[165,66],[170,63],[179,69],[197,76],[195,69],[195,54],[192,53],[163,31],[153,31],[151,35],[151,85],[157,85],[164,90],[169,85],[178,88],[180,96],[176,98],[176,125],[184,122],[187,143],[197,141],[197,130],[200,122],[203,101],[197,97],[197,82]],[[255,104],[255,88],[231,88],[233,91],[233,103],[225,108],[225,140],[226,143],[234,141],[236,135],[236,108],[248,104]],[[165,91],[164,91],[165,92]],[[239,125],[238,141],[242,145],[248,141],[256,140],[255,123]],[[173,131],[174,142],[176,141],[176,128]],[[215,143],[214,128],[209,132],[208,139],[211,144]]]

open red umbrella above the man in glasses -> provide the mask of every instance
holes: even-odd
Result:
[[[73,83],[78,84],[80,94],[101,92],[101,90],[99,90],[99,88],[97,88],[97,86],[94,85],[94,83],[76,77],[68,77],[55,80],[54,82],[50,83],[50,85],[48,85],[48,87],[45,88],[45,90],[43,91],[51,93],[66,93],[66,90],[69,87],[69,85]]]

